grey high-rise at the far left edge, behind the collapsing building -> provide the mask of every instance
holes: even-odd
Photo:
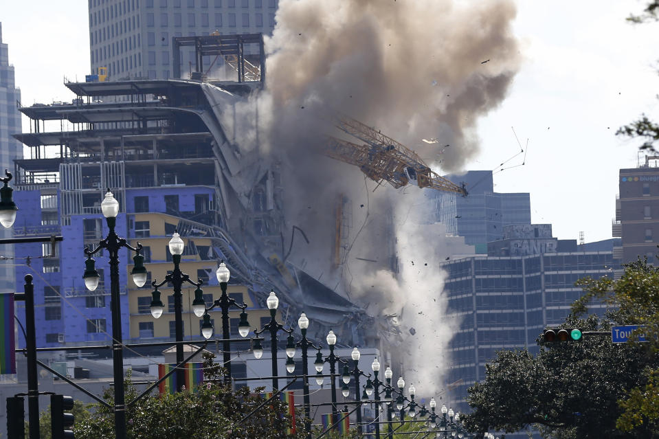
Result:
[[[0,174],[14,168],[14,159],[23,157],[23,145],[13,134],[21,132],[21,113],[17,107],[21,102],[21,91],[14,82],[14,66],[9,63],[9,47],[2,42],[2,23],[0,23]],[[10,238],[12,231],[0,227],[0,238]],[[0,246],[2,256],[12,258],[10,245]],[[14,270],[0,267],[0,291],[14,291]]]

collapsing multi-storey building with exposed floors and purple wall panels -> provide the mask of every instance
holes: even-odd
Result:
[[[360,329],[366,321],[361,308],[303,269],[287,264],[286,188],[276,155],[260,153],[258,106],[249,100],[263,85],[263,37],[174,41],[176,49],[194,45],[199,59],[229,57],[227,63],[234,63],[230,65],[235,65],[238,80],[202,81],[201,74],[193,76],[196,80],[91,78],[91,82],[66,82],[76,95],[71,104],[20,108],[30,117],[31,129],[15,137],[30,147],[31,158],[15,161],[15,199],[22,211],[16,234],[64,236],[56,254],[35,245],[16,250],[18,258],[42,256],[31,259],[32,267],[16,269],[17,279],[41,271],[35,276],[35,301],[45,310],[37,319],[43,326],[37,333],[45,338],[38,339],[38,345],[106,337],[101,334],[105,332],[101,321],[109,320],[109,307],[95,306],[104,299],[89,297],[102,297],[109,270],[98,291],[86,291],[82,280],[82,249],[104,236],[100,201],[106,188],[125,213],[118,221],[118,234],[132,243],[140,240],[150,264],[170,264],[171,255],[166,248],[149,248],[147,241],[177,230],[188,238],[183,260],[200,262],[199,277],[208,280],[211,266],[224,260],[232,273],[230,283],[247,286],[254,307],[264,308],[273,289],[286,304],[282,318],[287,325],[304,311],[314,322],[311,336],[324,337],[332,328],[340,344],[371,344]],[[256,49],[245,51],[246,45]],[[258,54],[250,60],[244,55],[247,52]],[[166,247],[166,240],[155,240],[153,245]],[[148,293],[129,285],[129,256],[120,254],[121,306],[133,316],[148,313],[144,299]],[[88,309],[80,313],[81,308]],[[122,330],[128,333],[132,320],[122,320]],[[130,333],[137,336],[133,328]],[[199,335],[196,328],[186,338],[190,335]]]

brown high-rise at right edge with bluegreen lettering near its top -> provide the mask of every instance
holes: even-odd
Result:
[[[659,244],[659,168],[658,156],[645,157],[638,168],[620,170],[619,196],[612,234],[622,238],[614,253],[623,262],[647,257],[656,264]],[[654,166],[651,166],[654,165]]]

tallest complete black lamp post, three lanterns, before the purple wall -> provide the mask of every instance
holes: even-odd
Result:
[[[120,304],[120,285],[119,285],[119,250],[122,247],[135,251],[133,260],[135,266],[131,274],[133,282],[137,287],[144,286],[146,283],[146,269],[144,268],[144,256],[139,254],[142,245],[137,243],[137,247],[131,247],[126,243],[125,238],[120,238],[115,233],[117,215],[119,214],[119,203],[108,189],[105,198],[101,203],[101,212],[107,221],[109,234],[107,238],[98,243],[96,249],[85,249],[87,260],[85,261],[85,286],[90,291],[94,291],[98,286],[100,276],[94,267],[94,260],[91,258],[101,249],[107,249],[110,260],[110,308],[112,314],[112,363],[114,374],[114,414],[115,414],[115,435],[116,439],[126,439],[126,404],[124,401],[124,358],[121,328],[121,304]]]

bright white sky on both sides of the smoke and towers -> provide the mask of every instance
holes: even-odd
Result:
[[[498,172],[495,190],[530,192],[533,222],[552,223],[559,238],[610,238],[618,168],[637,162],[637,143],[614,132],[643,112],[659,119],[659,23],[626,23],[643,8],[636,0],[517,5],[524,63],[509,97],[480,121],[482,153],[468,169],[495,169],[515,155],[513,126],[522,144],[529,139],[526,164]],[[89,71],[87,1],[0,6],[23,104],[74,98],[63,80]]]

